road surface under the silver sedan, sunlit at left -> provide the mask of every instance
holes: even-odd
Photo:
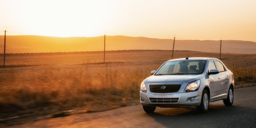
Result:
[[[14,127],[256,127],[256,87],[234,90],[234,103],[226,107],[222,100],[210,103],[209,112],[199,114],[195,107],[156,108],[152,114],[143,111],[141,105],[127,106],[98,113],[86,113],[67,117],[36,121]]]

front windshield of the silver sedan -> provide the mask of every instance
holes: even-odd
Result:
[[[156,75],[202,74],[204,67],[204,60],[167,61],[159,68]]]

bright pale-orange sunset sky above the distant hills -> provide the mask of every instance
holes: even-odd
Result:
[[[0,35],[256,42],[256,0],[0,0]]]

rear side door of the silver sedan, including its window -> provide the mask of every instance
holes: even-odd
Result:
[[[218,60],[215,60],[217,69],[219,70],[219,75],[220,75],[220,79],[221,79],[221,95],[222,97],[225,97],[225,94],[227,94],[228,92],[228,81],[229,81],[229,72],[225,69],[225,67],[222,65],[222,63]],[[227,90],[227,91],[226,91]]]

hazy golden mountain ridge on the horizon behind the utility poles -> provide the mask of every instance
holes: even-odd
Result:
[[[172,50],[173,39],[106,36],[106,51],[112,50]],[[256,54],[256,42],[222,40],[221,53]],[[0,36],[0,54],[4,36]],[[220,40],[175,40],[174,50],[219,53]],[[49,53],[104,51],[104,36],[49,37],[35,35],[6,36],[6,53]]]

